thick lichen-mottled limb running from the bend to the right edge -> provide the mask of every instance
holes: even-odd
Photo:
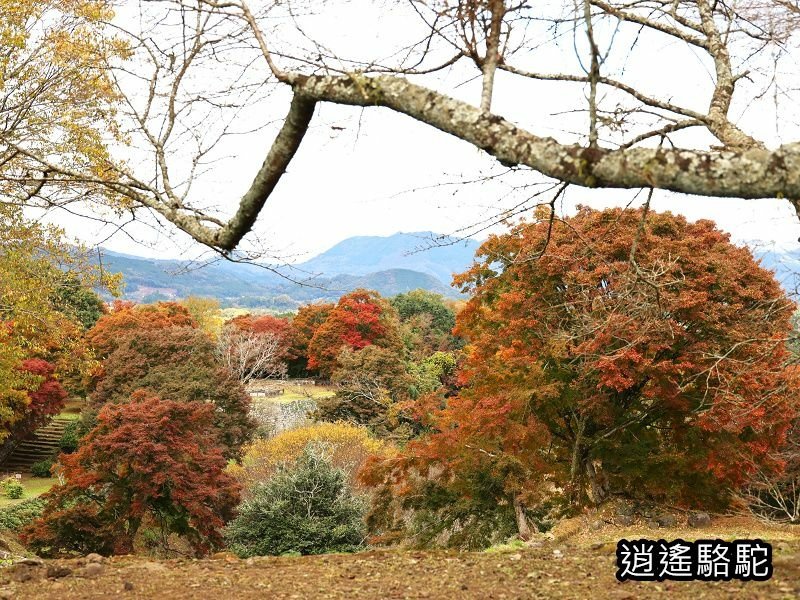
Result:
[[[800,198],[800,143],[775,150],[584,147],[530,133],[506,119],[397,76],[289,75],[318,102],[384,106],[485,150],[584,187],[649,188],[729,198]]]

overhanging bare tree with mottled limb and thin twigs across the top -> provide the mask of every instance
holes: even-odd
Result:
[[[364,23],[315,20],[315,11],[335,10],[329,3],[140,3],[113,24],[130,58],[106,65],[127,160],[83,169],[6,138],[33,173],[15,180],[18,196],[75,188],[85,198],[94,186],[228,253],[327,103],[383,107],[556,182],[784,198],[800,212],[796,0],[409,0],[379,9],[385,19],[375,26],[391,44],[370,53],[334,39],[341,29],[358,36]],[[686,68],[660,85],[642,81],[648,62]],[[640,75],[628,75],[632,64]],[[462,90],[472,79],[481,83],[475,103]],[[531,102],[514,116],[493,112],[499,85],[518,86]],[[547,94],[563,99],[562,113],[537,112],[533,99]],[[288,110],[249,188],[210,205],[193,184],[214,168],[215,152],[267,126],[262,108],[282,102]],[[765,107],[772,128],[759,116]],[[544,133],[554,119],[559,139]],[[785,142],[784,132],[795,139]]]

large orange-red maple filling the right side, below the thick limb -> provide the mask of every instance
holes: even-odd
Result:
[[[713,223],[643,217],[584,208],[486,241],[457,278],[472,293],[463,388],[419,402],[429,434],[373,483],[428,489],[440,517],[442,498],[473,514],[488,500],[523,533],[554,498],[709,506],[752,465],[779,468],[798,413],[793,305]]]

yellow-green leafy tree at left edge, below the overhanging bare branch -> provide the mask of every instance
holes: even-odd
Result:
[[[60,229],[0,203],[0,444],[46,402],[45,381],[74,389],[96,364],[63,293],[76,284],[114,292],[119,278]]]

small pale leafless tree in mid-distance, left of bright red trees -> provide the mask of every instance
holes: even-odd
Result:
[[[282,340],[272,333],[257,333],[227,325],[217,341],[220,361],[247,385],[253,379],[279,379],[286,376],[282,360]]]

